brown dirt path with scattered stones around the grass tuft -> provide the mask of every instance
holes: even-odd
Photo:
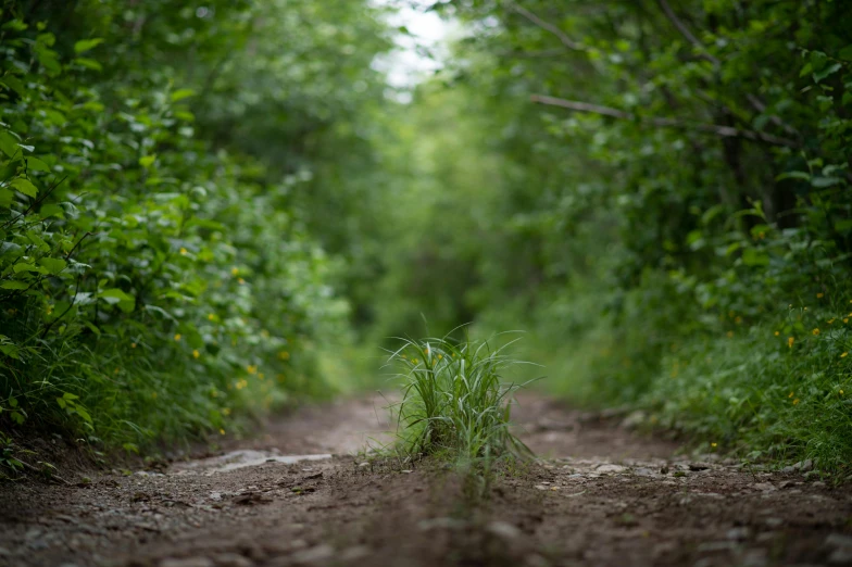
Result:
[[[679,457],[535,394],[515,418],[547,458],[488,487],[359,466],[347,453],[381,438],[383,405],[304,408],[162,471],[0,487],[0,565],[852,565],[850,488]]]

